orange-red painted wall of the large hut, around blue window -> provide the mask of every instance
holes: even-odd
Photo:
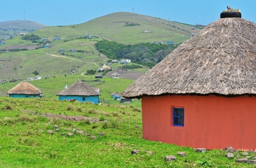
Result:
[[[207,150],[256,151],[256,96],[167,95],[142,97],[143,139]],[[172,108],[184,108],[184,127]]]

